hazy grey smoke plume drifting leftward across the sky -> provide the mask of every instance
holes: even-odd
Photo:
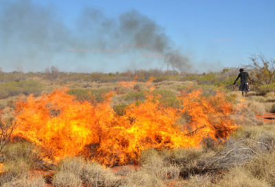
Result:
[[[191,65],[173,47],[165,29],[131,10],[107,17],[89,7],[66,25],[54,5],[30,0],[0,3],[0,62],[4,71],[21,65],[39,72],[57,65],[68,72],[114,72],[171,65],[181,72]]]

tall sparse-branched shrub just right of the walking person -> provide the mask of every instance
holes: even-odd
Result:
[[[251,54],[250,76],[256,87],[275,82],[275,61],[267,60],[263,54]]]

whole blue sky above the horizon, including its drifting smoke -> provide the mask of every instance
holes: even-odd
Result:
[[[1,0],[0,67],[221,71],[250,63],[250,53],[275,58],[274,8],[274,0]]]

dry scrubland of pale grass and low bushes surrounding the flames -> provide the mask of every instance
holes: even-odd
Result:
[[[263,56],[254,56],[252,61],[254,65],[247,71],[252,72],[255,84],[250,85],[245,99],[238,84],[231,85],[239,68],[203,74],[160,69],[80,74],[60,72],[58,67],[36,73],[1,72],[0,186],[275,186],[275,122],[255,118],[275,110],[274,77],[259,72],[255,65],[261,66],[260,61],[268,70],[274,62]],[[261,83],[260,74],[265,73],[270,79]],[[67,94],[76,100],[93,104],[104,102],[111,91],[111,107],[120,116],[130,104],[144,102],[152,88],[159,104],[175,109],[181,108],[179,91],[201,89],[206,98],[223,91],[226,100],[234,104],[230,116],[238,128],[223,142],[205,137],[199,148],[147,148],[139,162],[124,166],[109,168],[82,155],[51,162],[43,157],[49,153],[36,144],[16,137],[11,141],[8,133],[20,125],[16,121],[17,100],[61,87],[67,87]],[[220,103],[215,104],[219,107]],[[175,125],[184,126],[189,120],[183,115]]]

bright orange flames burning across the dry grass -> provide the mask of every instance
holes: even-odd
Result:
[[[111,107],[113,93],[104,102],[91,104],[66,91],[56,89],[17,102],[19,126],[13,133],[40,146],[45,159],[57,162],[83,155],[107,166],[122,165],[138,160],[145,148],[199,147],[205,138],[223,141],[236,129],[230,118],[232,104],[223,93],[204,98],[201,90],[181,92],[180,109],[164,106],[159,96],[148,94],[120,116]],[[176,125],[183,115],[190,122]]]

